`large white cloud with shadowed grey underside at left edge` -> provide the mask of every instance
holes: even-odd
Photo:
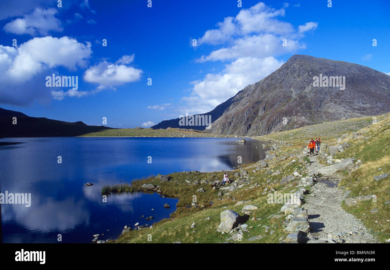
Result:
[[[35,37],[18,48],[0,45],[0,103],[27,105],[33,100],[50,101],[46,76],[53,69],[85,68],[91,44],[69,37]]]

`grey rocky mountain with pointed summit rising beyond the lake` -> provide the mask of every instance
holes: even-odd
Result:
[[[358,64],[293,55],[266,78],[204,115],[212,119],[206,132],[253,136],[386,112],[390,112],[389,75]],[[178,119],[152,128],[174,123]]]

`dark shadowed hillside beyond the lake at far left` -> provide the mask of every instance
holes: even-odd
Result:
[[[12,118],[16,117],[16,124]],[[106,126],[88,126],[82,121],[69,123],[30,117],[21,112],[0,108],[0,137],[67,137],[112,129]]]

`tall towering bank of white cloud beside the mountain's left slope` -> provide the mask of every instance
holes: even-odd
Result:
[[[203,79],[191,82],[191,95],[181,99],[183,105],[178,110],[189,114],[212,110],[246,85],[258,82],[278,69],[284,63],[276,59],[278,55],[306,48],[300,39],[305,32],[315,30],[318,23],[307,22],[296,28],[280,20],[288,6],[284,3],[282,8],[275,9],[258,3],[241,9],[235,17],[224,18],[216,24],[216,29],[207,30],[198,39],[198,45],[220,47],[195,62],[228,63],[221,72],[208,73]]]

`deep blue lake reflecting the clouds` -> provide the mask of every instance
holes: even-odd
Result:
[[[240,144],[238,139],[2,139],[1,193],[31,194],[30,207],[1,204],[3,242],[58,243],[61,234],[62,243],[92,243],[94,234],[104,234],[99,240],[106,240],[117,238],[125,225],[150,226],[168,218],[178,199],[137,192],[110,196],[104,203],[101,188],[159,173],[232,170],[264,158],[264,150],[256,148],[264,142],[246,139]],[[57,162],[59,156],[62,163]],[[145,220],[149,216],[154,219]]]

